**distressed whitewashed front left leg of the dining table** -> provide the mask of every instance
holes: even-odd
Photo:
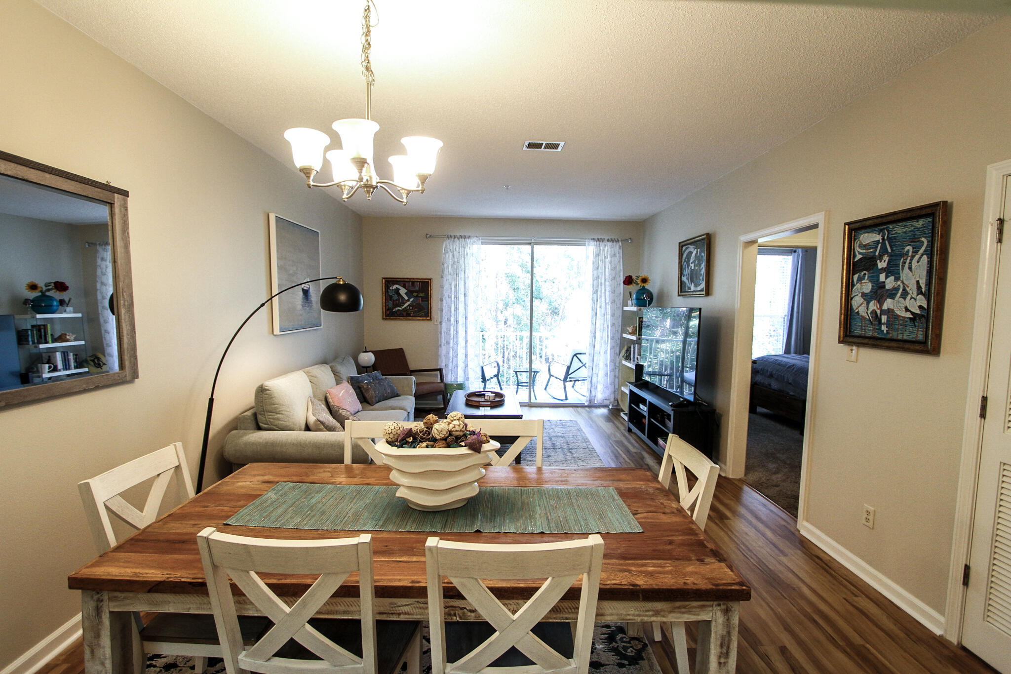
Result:
[[[81,623],[84,633],[84,670],[87,674],[133,672],[133,628],[131,614],[109,610],[105,592],[81,592]]]

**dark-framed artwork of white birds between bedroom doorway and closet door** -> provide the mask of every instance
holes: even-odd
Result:
[[[937,355],[947,202],[846,222],[839,343]]]

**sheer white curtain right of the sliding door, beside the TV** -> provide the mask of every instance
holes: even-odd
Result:
[[[618,399],[618,352],[622,331],[622,244],[617,238],[586,240],[589,258],[589,347],[586,403]]]

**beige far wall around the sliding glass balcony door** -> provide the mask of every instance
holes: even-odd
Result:
[[[415,197],[424,199],[425,197]],[[366,217],[362,224],[365,251],[365,344],[369,349],[403,347],[413,368],[439,367],[439,291],[442,238],[425,234],[477,236],[631,237],[622,245],[627,274],[639,270],[642,223],[605,220],[522,220],[470,217]],[[383,320],[383,277],[431,278],[433,319]]]

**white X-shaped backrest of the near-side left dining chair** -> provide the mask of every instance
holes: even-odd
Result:
[[[243,670],[276,672],[299,671],[372,674],[376,671],[375,586],[372,579],[372,536],[319,541],[254,539],[221,534],[208,526],[197,534],[200,560],[207,578],[207,592],[214,611],[214,625],[221,642],[224,667],[228,674]],[[308,619],[330,599],[352,573],[359,573],[362,619],[362,656],[341,648]],[[319,578],[291,606],[279,598],[260,573],[306,574]],[[274,627],[246,648],[239,630],[236,599],[228,578]],[[289,640],[295,640],[321,659],[285,658],[275,655]]]

